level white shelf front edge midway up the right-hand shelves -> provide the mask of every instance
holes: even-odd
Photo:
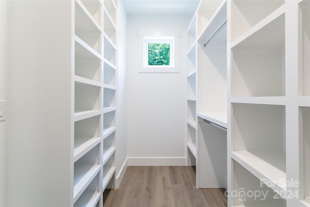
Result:
[[[285,105],[285,96],[231,97],[232,103]]]

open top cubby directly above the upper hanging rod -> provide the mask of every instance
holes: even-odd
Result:
[[[215,14],[218,6],[223,0],[202,0],[197,10],[197,37],[209,24],[211,17]]]

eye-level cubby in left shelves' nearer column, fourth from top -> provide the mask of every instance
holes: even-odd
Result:
[[[75,113],[100,110],[101,87],[75,82]]]

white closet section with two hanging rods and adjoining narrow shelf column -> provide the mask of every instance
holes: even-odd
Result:
[[[187,164],[197,188],[227,189],[226,21],[226,0],[202,0],[188,27]]]

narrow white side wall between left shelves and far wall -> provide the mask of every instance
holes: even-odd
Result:
[[[117,113],[116,113],[116,188],[122,181],[126,170],[127,159],[127,81],[126,81],[126,45],[127,14],[123,1],[118,7],[118,80],[117,80]]]

